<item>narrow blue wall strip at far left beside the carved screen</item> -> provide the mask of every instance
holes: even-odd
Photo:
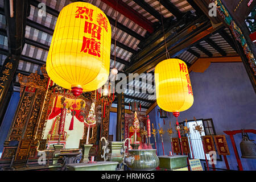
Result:
[[[2,125],[0,127],[0,158],[3,152],[3,143],[8,135],[11,123],[13,122],[13,117],[16,111],[16,107],[19,104],[19,92],[13,92],[11,96],[9,105],[7,107],[5,117],[3,118]]]

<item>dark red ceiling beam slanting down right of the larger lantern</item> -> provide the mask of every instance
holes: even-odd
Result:
[[[112,7],[114,10],[117,10],[119,13],[123,14],[133,22],[137,23],[142,28],[146,29],[148,32],[154,32],[154,24],[150,22],[147,18],[139,14],[137,11],[132,9],[131,7],[127,6],[126,3],[117,0],[101,0],[102,2],[106,3],[108,6]]]

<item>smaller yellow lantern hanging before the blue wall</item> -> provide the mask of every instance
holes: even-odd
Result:
[[[187,65],[180,59],[167,59],[155,67],[156,102],[175,117],[193,104]]]

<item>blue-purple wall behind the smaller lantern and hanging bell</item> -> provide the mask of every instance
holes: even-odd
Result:
[[[213,119],[214,128],[217,135],[224,134],[225,130],[256,129],[256,95],[251,86],[251,82],[242,63],[212,63],[204,73],[191,72],[190,74],[194,103],[187,111],[180,113],[179,122],[185,118]],[[176,119],[170,115],[163,125],[163,119],[157,116],[158,106],[151,111],[150,120],[166,131],[171,121],[174,129]],[[157,126],[158,127],[158,126]],[[176,137],[174,135],[174,137]],[[250,139],[256,141],[254,134],[249,134]],[[237,160],[234,155],[230,138],[226,135],[230,155],[227,156],[230,169],[237,170]],[[239,155],[241,134],[234,135]],[[162,143],[159,135],[156,137],[158,154],[162,155]],[[163,135],[164,153],[167,155],[171,150],[168,134]],[[151,139],[151,143],[154,140]],[[256,170],[256,159],[241,158],[244,170]],[[217,161],[217,168],[226,168],[224,161]]]

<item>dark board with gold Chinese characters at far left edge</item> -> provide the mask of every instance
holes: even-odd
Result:
[[[0,71],[0,126],[9,104],[11,94],[7,94],[13,82],[13,77],[18,68],[20,56],[9,55],[5,59]],[[9,99],[8,99],[9,98]]]

